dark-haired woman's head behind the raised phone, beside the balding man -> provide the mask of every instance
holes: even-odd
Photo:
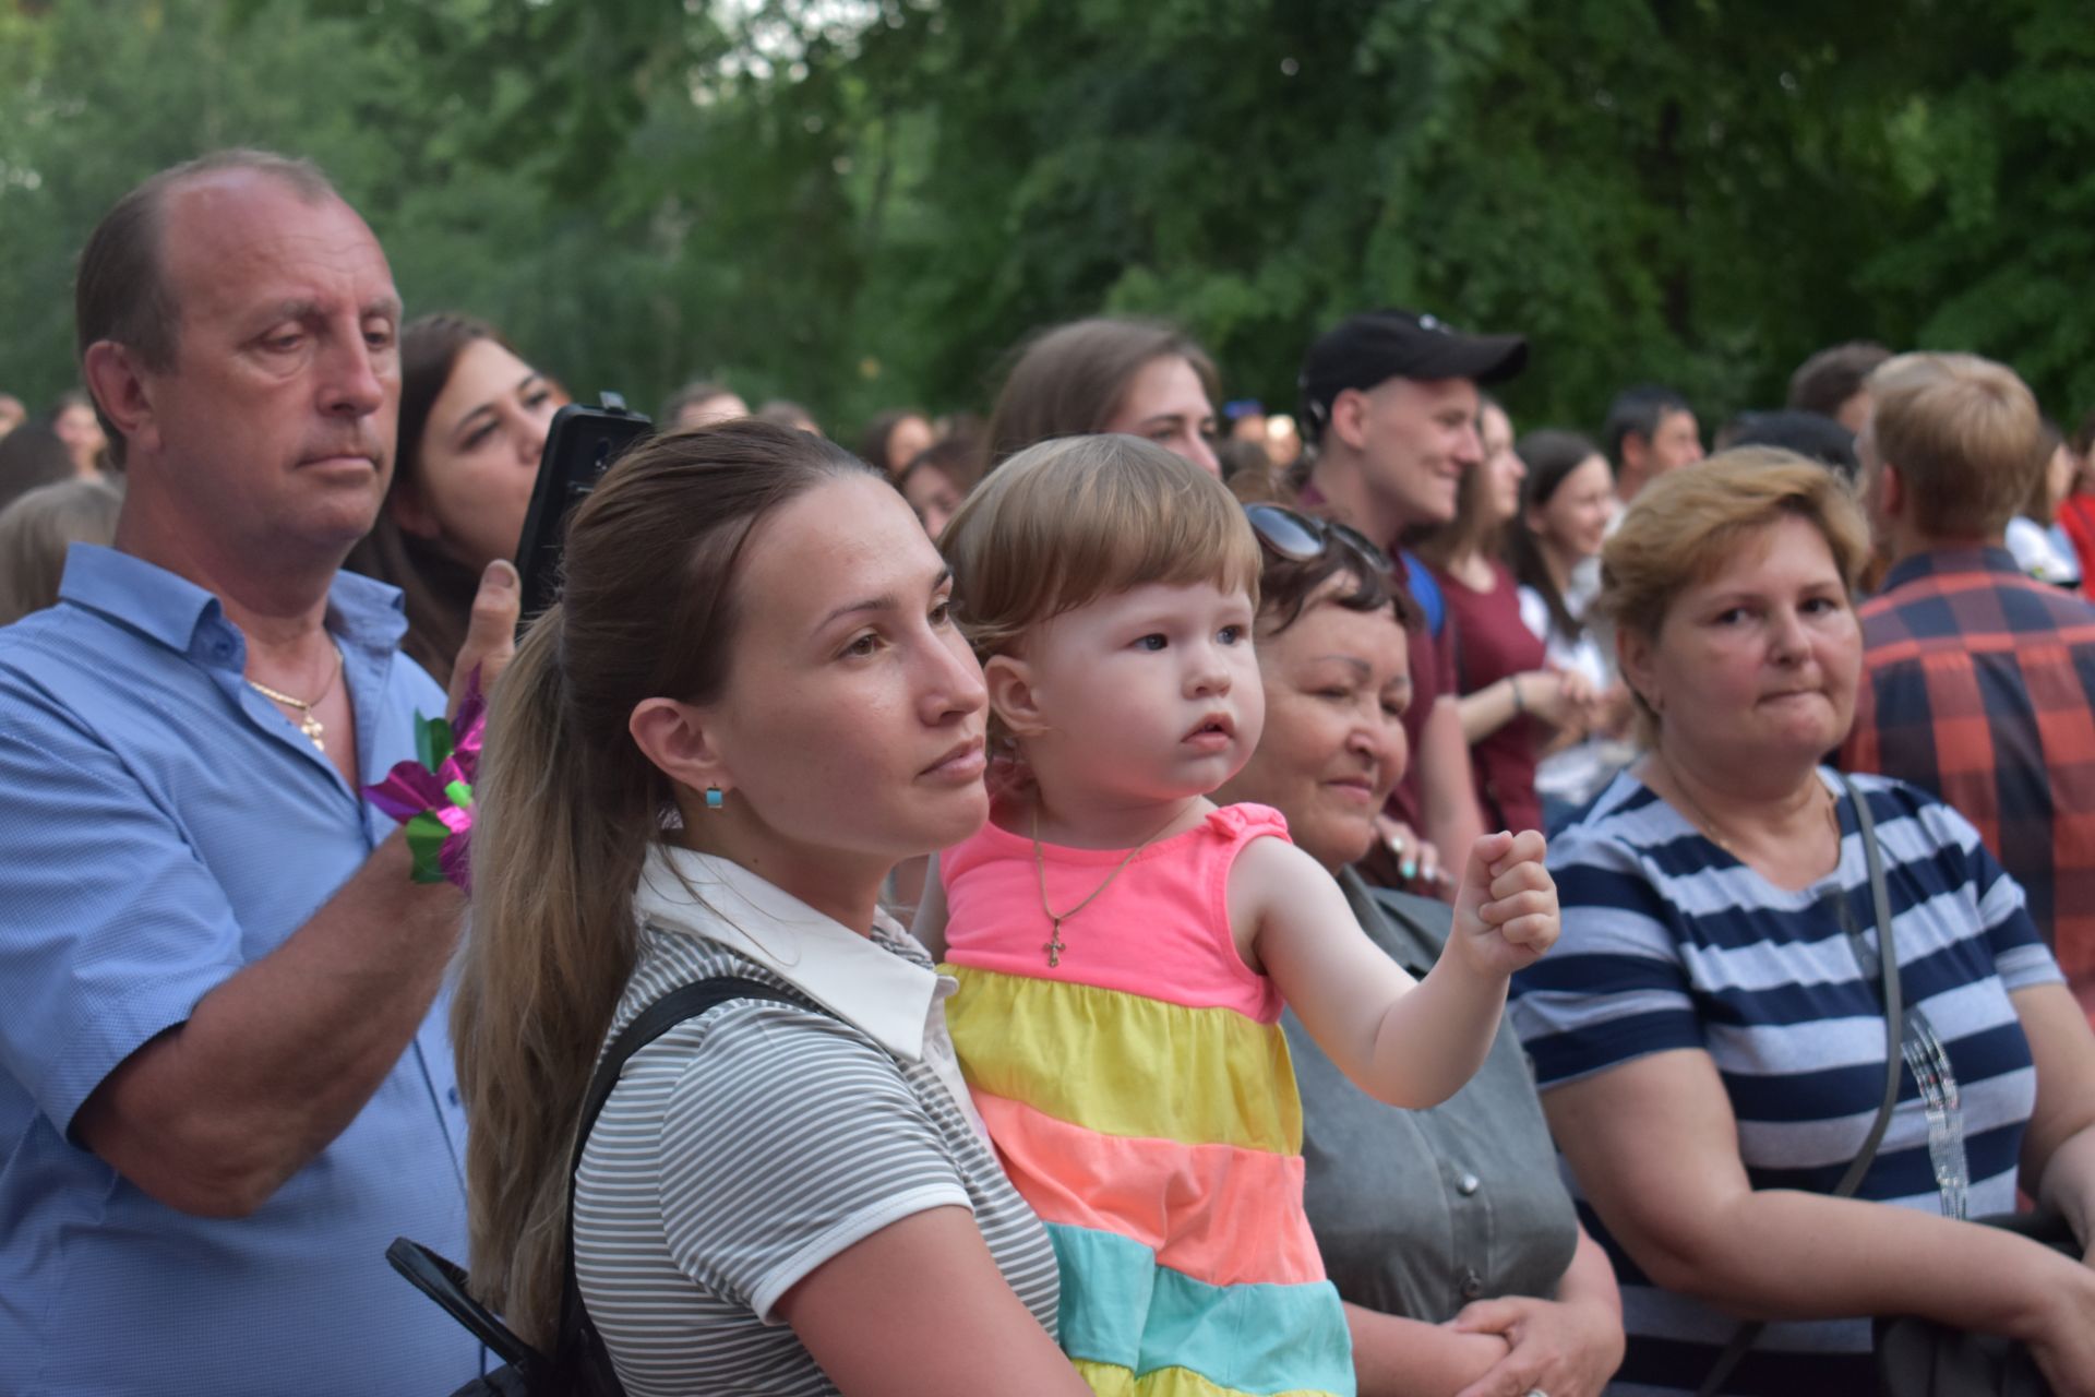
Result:
[[[513,559],[538,454],[566,390],[492,325],[429,314],[400,331],[400,450],[385,507],[348,568],[406,595],[400,645],[440,685],[480,574]]]

